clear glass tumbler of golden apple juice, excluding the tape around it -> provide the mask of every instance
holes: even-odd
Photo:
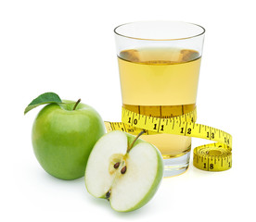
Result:
[[[180,21],[141,21],[114,30],[122,106],[149,117],[177,117],[196,108],[205,30]],[[186,171],[191,138],[158,133],[141,138],[159,148],[164,177]]]

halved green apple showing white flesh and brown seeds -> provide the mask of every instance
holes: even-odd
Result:
[[[85,169],[87,191],[108,199],[119,212],[133,211],[146,204],[163,176],[160,151],[138,139],[139,135],[134,138],[119,130],[105,134],[96,142]]]

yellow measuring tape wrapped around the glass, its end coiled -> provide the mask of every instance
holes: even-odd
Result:
[[[196,137],[214,143],[198,146],[193,152],[193,165],[207,171],[224,171],[232,166],[232,136],[220,129],[195,123],[197,110],[172,118],[148,117],[122,107],[122,122],[105,122],[107,131],[122,130],[146,135],[168,133]]]

